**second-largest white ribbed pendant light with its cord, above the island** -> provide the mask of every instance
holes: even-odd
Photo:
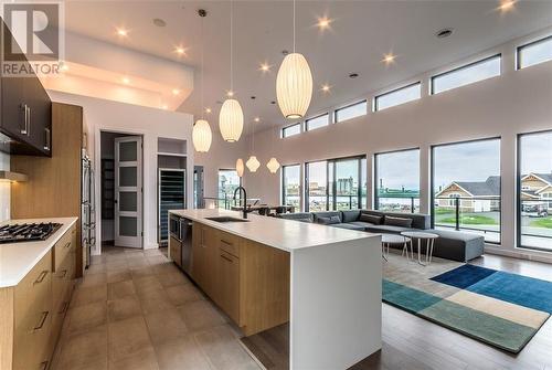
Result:
[[[230,92],[229,98],[224,101],[219,114],[219,126],[222,138],[229,142],[240,140],[243,130],[243,110],[240,102],[234,99],[234,1],[230,2]]]

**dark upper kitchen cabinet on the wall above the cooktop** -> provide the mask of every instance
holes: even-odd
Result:
[[[2,22],[3,32],[11,35]],[[12,38],[4,38],[11,40]],[[10,42],[2,45],[12,47]],[[24,54],[18,62],[26,63]],[[2,63],[6,63],[2,61]],[[36,75],[0,78],[0,150],[29,156],[52,154],[52,102]]]

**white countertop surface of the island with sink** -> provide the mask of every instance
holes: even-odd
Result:
[[[248,214],[248,222],[224,223],[206,219],[214,216],[233,216],[241,219],[242,213],[236,211],[173,210],[169,212],[287,252],[352,240],[380,237],[379,234],[363,231],[344,230],[316,223],[283,220],[256,214]]]

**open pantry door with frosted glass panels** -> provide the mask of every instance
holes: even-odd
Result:
[[[141,137],[115,139],[115,245],[142,247]]]

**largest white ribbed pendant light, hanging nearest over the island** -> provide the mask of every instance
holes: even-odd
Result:
[[[294,52],[287,54],[276,77],[276,97],[284,117],[299,119],[305,116],[312,97],[312,74],[300,53],[295,52],[295,0],[294,0]]]

